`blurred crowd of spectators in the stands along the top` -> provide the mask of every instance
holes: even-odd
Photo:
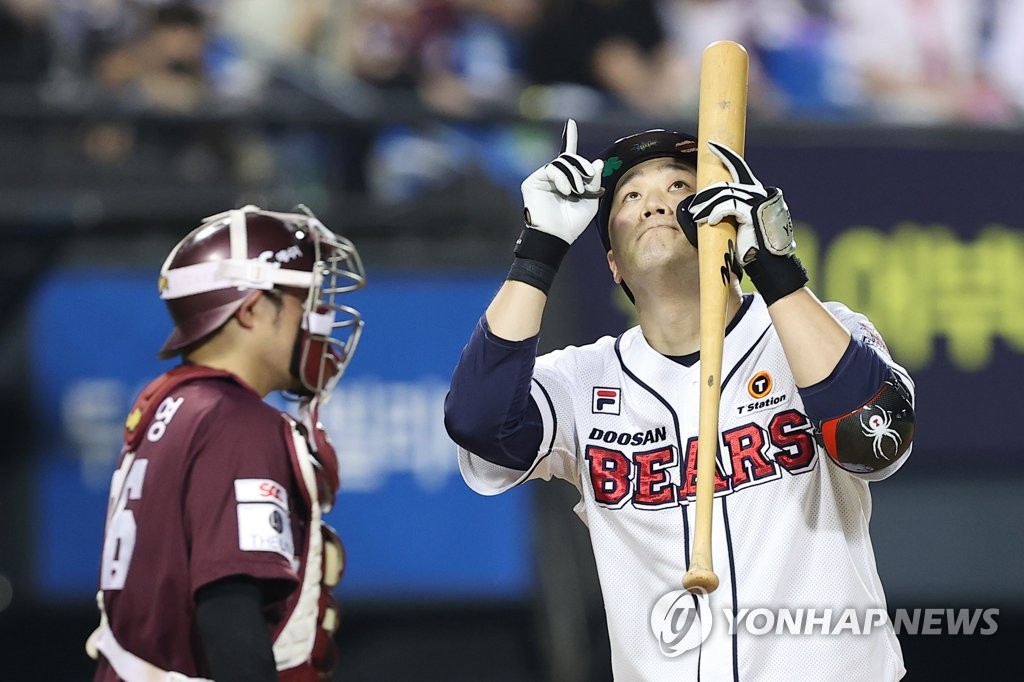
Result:
[[[755,120],[1012,126],[1020,35],[1024,0],[0,0],[0,85],[172,114],[301,93],[368,120],[693,120],[701,51],[731,39]],[[396,163],[438,175],[486,145],[511,182],[549,153],[514,127],[394,125],[373,145],[385,199],[429,183]]]

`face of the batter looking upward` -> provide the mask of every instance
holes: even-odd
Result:
[[[696,174],[675,159],[651,159],[618,182],[608,216],[609,257],[616,279],[696,251],[676,220],[676,207],[693,194]]]

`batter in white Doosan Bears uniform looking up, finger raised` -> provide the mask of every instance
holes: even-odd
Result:
[[[899,643],[877,617],[868,482],[910,452],[913,384],[870,322],[807,289],[782,193],[711,146],[732,181],[694,194],[694,137],[648,130],[588,161],[566,124],[562,154],[522,183],[526,226],[508,279],[452,378],[445,425],[462,474],[483,495],[534,478],[579,489],[616,680],[898,679]],[[595,214],[639,326],[537,357],[559,261]],[[696,230],[727,217],[738,249],[715,478],[721,585],[691,596],[681,578],[694,526]],[[741,293],[743,274],[757,294]],[[765,632],[785,608],[809,620]],[[744,627],[752,611],[761,620]],[[839,627],[846,612],[856,628]]]

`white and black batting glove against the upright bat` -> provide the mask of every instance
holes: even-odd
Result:
[[[742,157],[728,146],[714,141],[708,145],[725,164],[732,182],[716,182],[698,191],[689,206],[693,221],[715,225],[733,218],[737,253],[743,265],[754,261],[761,249],[775,256],[791,255],[797,243],[782,190],[761,184]]]

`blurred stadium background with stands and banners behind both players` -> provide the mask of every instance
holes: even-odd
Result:
[[[338,679],[608,679],[571,489],[473,495],[440,404],[563,117],[588,156],[692,130],[686,74],[713,37],[752,52],[746,156],[784,187],[813,288],[867,313],[918,382],[914,455],[872,486],[890,609],[999,609],[994,635],[901,637],[907,679],[1019,668],[1024,58],[1000,37],[1024,14],[978,4],[1001,13],[961,16],[970,35],[944,43],[950,60],[969,44],[970,68],[896,87],[836,58],[866,49],[840,0],[776,2],[774,24],[772,3],[739,0],[0,1],[0,680],[89,678],[121,422],[163,367],[156,273],[203,216],[250,202],[307,204],[369,274],[325,415],[349,552]],[[566,71],[552,35],[590,60]],[[600,67],[602,41],[633,41],[647,96]],[[587,233],[542,344],[629,321]]]

